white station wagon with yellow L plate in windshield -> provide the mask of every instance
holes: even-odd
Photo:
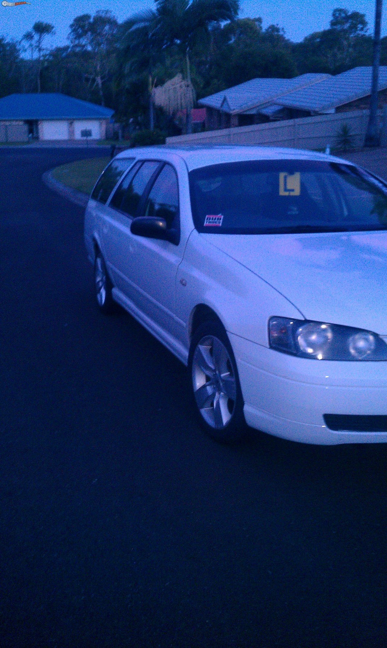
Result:
[[[126,150],[85,213],[96,299],[185,365],[206,432],[387,441],[387,183],[255,146]]]

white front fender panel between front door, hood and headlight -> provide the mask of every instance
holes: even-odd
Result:
[[[199,304],[212,308],[228,332],[265,347],[269,346],[269,317],[302,318],[283,295],[196,230],[188,239],[177,272],[176,298],[177,316],[186,325],[187,346],[192,314]]]

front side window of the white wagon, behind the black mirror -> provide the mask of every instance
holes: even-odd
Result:
[[[155,179],[142,215],[164,218],[168,229],[179,229],[179,185],[170,164],[164,165]]]

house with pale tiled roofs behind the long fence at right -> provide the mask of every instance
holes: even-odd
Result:
[[[257,78],[199,100],[206,130],[369,108],[371,67],[340,75]],[[387,66],[379,67],[379,105],[387,104]]]

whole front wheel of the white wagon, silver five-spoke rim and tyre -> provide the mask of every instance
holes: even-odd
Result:
[[[238,369],[219,321],[206,321],[195,330],[188,373],[194,408],[205,432],[221,443],[243,438],[247,426]]]

